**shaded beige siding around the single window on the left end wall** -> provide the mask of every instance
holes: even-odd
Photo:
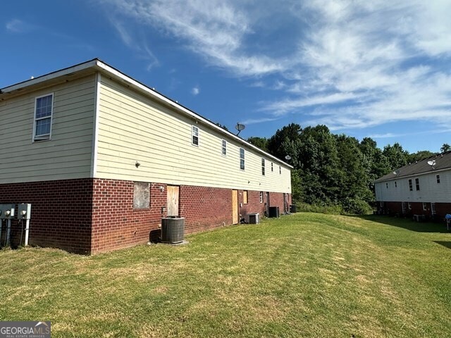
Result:
[[[91,75],[1,101],[0,183],[89,177],[94,89]],[[33,142],[35,99],[51,93],[51,140]]]

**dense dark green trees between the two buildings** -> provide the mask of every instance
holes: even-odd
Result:
[[[370,137],[359,142],[345,134],[332,134],[325,125],[302,128],[291,123],[268,139],[249,137],[247,141],[294,167],[295,202],[335,206],[345,213],[370,212],[375,202],[374,180],[435,154],[409,154],[398,143],[379,149]],[[440,149],[449,150],[448,144]]]

